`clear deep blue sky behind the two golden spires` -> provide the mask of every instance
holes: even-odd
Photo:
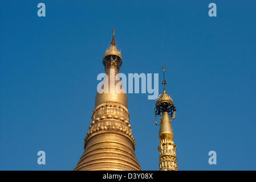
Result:
[[[46,17],[37,16],[39,2]],[[211,2],[217,17],[208,16]],[[178,169],[255,170],[255,7],[253,0],[0,1],[0,169],[76,166],[115,27],[122,73],[166,67]],[[128,109],[141,168],[158,170],[159,127],[147,97],[128,94]]]

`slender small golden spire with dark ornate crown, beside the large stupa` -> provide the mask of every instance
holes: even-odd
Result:
[[[162,67],[164,73],[165,67]],[[159,95],[155,105],[155,121],[157,115],[161,115],[159,139],[159,169],[160,171],[177,171],[177,156],[176,145],[173,142],[172,119],[175,119],[176,107],[173,104],[172,98],[166,93],[165,78],[162,81],[164,92]],[[172,119],[170,119],[172,118]],[[157,121],[156,121],[157,125]]]

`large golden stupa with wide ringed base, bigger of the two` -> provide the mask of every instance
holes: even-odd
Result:
[[[111,72],[116,75],[122,63],[114,35],[115,31],[111,47],[103,57],[108,76],[111,76]],[[129,123],[127,104],[126,93],[96,94],[91,125],[84,138],[84,152],[74,170],[141,170],[135,155],[136,143]]]

